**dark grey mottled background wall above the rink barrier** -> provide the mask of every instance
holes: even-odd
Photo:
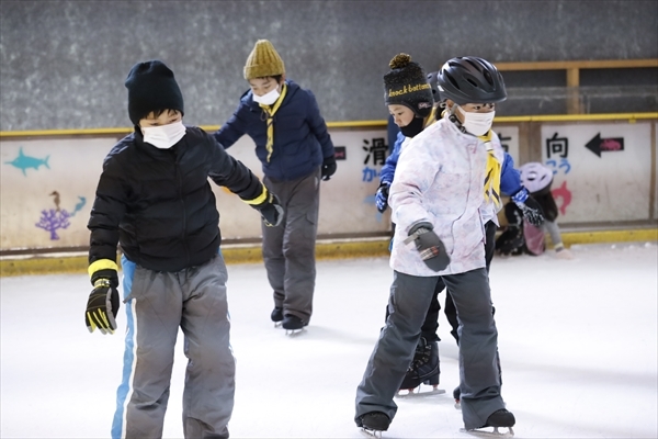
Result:
[[[290,79],[316,93],[327,121],[385,119],[382,76],[400,52],[427,71],[463,55],[658,57],[655,0],[2,0],[0,8],[0,131],[128,126],[123,81],[152,58],[173,69],[186,123],[222,124],[247,89],[242,67],[259,38],[272,41]],[[657,78],[656,69],[638,69],[582,80],[655,87]],[[561,71],[506,79],[512,89],[566,83]]]

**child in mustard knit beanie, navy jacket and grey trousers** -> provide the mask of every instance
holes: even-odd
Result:
[[[250,90],[215,138],[225,148],[245,134],[256,143],[263,182],[285,211],[280,226],[262,228],[263,260],[274,291],[271,318],[286,330],[302,329],[313,314],[319,182],[336,172],[333,144],[315,95],[285,79],[272,43],[256,43],[245,79]]]

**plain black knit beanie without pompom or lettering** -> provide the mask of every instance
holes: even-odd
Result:
[[[125,82],[128,89],[128,116],[135,125],[152,111],[178,110],[183,113],[183,94],[173,71],[154,59],[138,63]]]

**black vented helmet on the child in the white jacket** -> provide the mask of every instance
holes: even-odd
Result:
[[[441,98],[458,105],[496,103],[507,99],[502,75],[496,66],[477,56],[447,60],[436,76]]]

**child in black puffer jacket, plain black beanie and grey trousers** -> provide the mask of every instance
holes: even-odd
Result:
[[[260,211],[268,225],[276,226],[283,210],[211,135],[183,125],[183,98],[164,64],[135,65],[125,86],[135,132],[105,158],[88,224],[90,331],[116,329],[117,244],[123,251],[127,334],[111,436],[162,437],[180,326],[190,359],[184,435],[228,438],[235,359],[219,213],[208,177]]]

